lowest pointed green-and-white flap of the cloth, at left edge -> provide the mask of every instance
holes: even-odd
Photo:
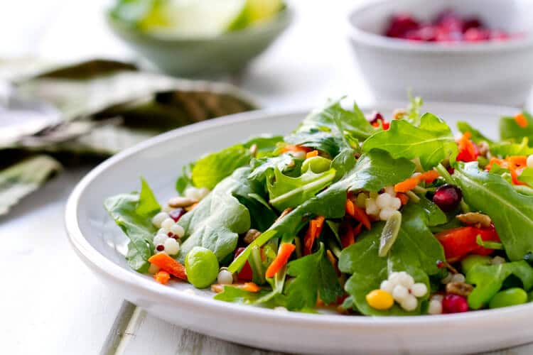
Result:
[[[0,215],[61,170],[48,155],[36,155],[0,170]]]

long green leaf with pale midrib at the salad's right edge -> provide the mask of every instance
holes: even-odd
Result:
[[[476,162],[460,162],[453,177],[465,202],[490,216],[512,261],[533,251],[533,197],[519,194],[500,175],[480,171]]]

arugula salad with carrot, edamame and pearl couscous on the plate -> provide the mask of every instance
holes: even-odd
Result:
[[[217,300],[346,315],[436,315],[529,302],[533,117],[500,120],[500,141],[461,136],[421,99],[391,119],[340,101],[288,136],[204,155],[160,204],[109,197],[126,259],[163,285]]]

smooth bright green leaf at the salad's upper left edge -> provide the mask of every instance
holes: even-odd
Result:
[[[194,164],[191,176],[193,184],[212,190],[235,169],[248,165],[250,159],[252,154],[242,144],[205,155]]]

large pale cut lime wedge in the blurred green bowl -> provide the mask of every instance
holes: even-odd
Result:
[[[188,37],[220,35],[242,16],[246,0],[156,1],[139,22],[149,33]]]

